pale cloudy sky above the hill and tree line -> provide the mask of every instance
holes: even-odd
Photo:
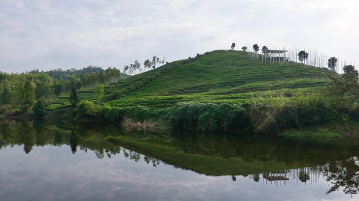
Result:
[[[174,61],[253,44],[357,60],[358,0],[0,0],[0,71]]]

